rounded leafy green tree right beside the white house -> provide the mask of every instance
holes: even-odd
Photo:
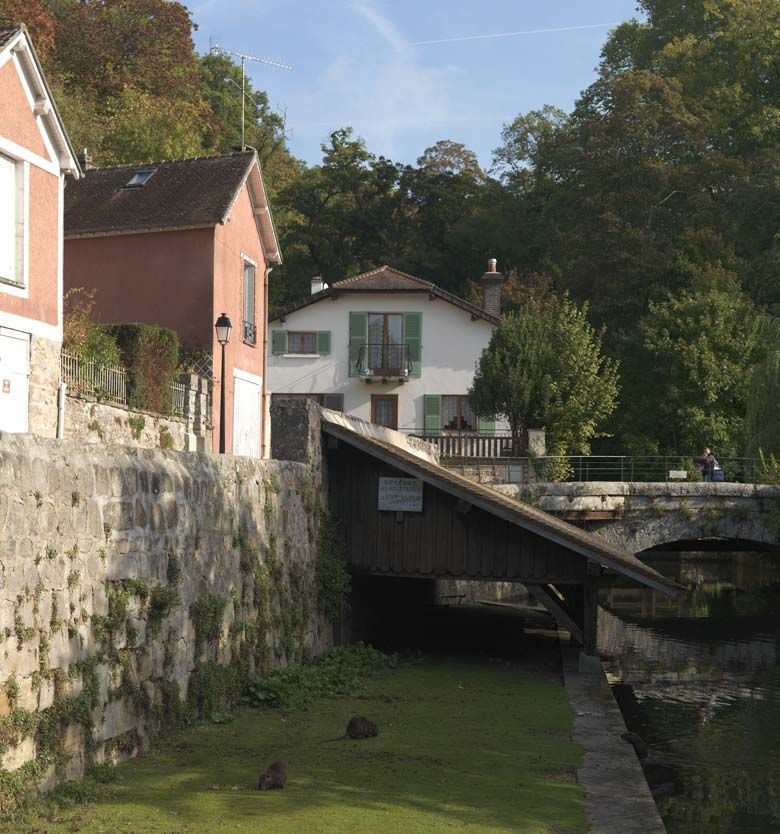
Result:
[[[553,454],[588,454],[615,409],[617,364],[602,355],[587,305],[568,297],[529,304],[502,318],[477,364],[469,401],[480,417],[504,417],[517,451],[543,426]]]

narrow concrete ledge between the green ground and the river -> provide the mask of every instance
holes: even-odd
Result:
[[[588,803],[588,834],[667,834],[604,670],[580,663],[561,639],[563,679],[575,712],[574,740],[585,750],[577,779]],[[580,669],[583,671],[580,671]]]

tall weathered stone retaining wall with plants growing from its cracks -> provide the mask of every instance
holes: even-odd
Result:
[[[0,812],[329,647],[301,457],[0,435]]]

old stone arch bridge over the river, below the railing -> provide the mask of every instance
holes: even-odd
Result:
[[[582,481],[494,490],[639,553],[679,547],[780,546],[780,487],[745,483]]]

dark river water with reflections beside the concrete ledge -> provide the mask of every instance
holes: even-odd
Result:
[[[687,593],[602,591],[599,652],[669,834],[780,834],[780,554],[645,561]]]

